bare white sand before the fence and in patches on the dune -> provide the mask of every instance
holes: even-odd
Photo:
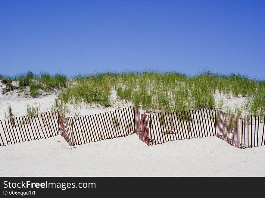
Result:
[[[2,88],[0,86],[0,92]],[[8,102],[14,115],[25,115],[27,104],[37,102],[46,111],[56,90],[38,98],[0,93],[0,119]],[[226,99],[231,108],[245,99]],[[80,115],[130,106],[111,95],[112,108],[81,106]],[[73,109],[71,107],[71,109]],[[58,142],[60,141],[60,142]],[[0,146],[1,176],[265,176],[265,146],[238,149],[217,137],[178,140],[147,146],[136,134],[85,145],[69,146],[63,137]]]

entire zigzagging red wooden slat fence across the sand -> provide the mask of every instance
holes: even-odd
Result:
[[[259,116],[228,115],[215,108],[142,114],[136,108],[125,107],[67,118],[59,112],[48,111],[0,120],[0,144],[5,146],[61,135],[74,146],[136,133],[149,146],[217,136],[244,149],[265,145],[264,119],[261,123]]]

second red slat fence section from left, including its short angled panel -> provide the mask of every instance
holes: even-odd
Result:
[[[72,146],[135,133],[132,107],[60,119],[60,126],[62,136]]]

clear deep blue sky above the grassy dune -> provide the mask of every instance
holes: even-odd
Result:
[[[0,0],[0,73],[203,68],[265,78],[265,1]]]

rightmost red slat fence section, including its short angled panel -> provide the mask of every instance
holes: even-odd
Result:
[[[264,146],[264,120],[260,126],[259,116],[229,115],[217,109],[217,137],[239,149]]]

